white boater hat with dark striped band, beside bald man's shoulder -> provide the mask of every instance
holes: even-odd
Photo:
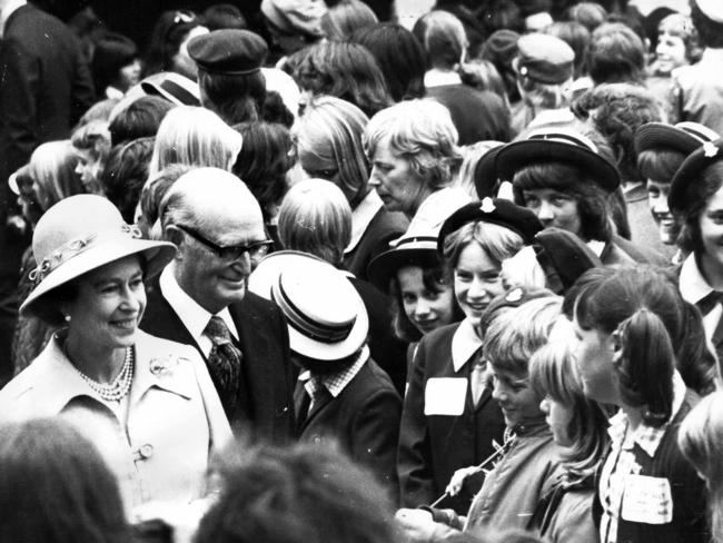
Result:
[[[248,288],[274,300],[286,317],[291,351],[339,361],[364,346],[369,317],[348,277],[306,253],[281,250],[264,258]]]

